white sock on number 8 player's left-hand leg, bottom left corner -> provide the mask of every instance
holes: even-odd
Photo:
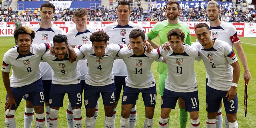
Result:
[[[16,110],[10,110],[10,112],[9,112],[9,109],[7,109],[5,111],[6,128],[16,128],[16,122],[15,122],[15,118],[14,118],[15,112],[16,112]]]

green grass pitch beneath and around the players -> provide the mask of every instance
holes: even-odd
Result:
[[[154,41],[158,42],[159,38],[156,38]],[[192,37],[192,42],[195,42],[196,37]],[[240,128],[256,128],[256,59],[255,59],[255,52],[256,49],[256,42],[255,38],[241,38],[242,46],[244,48],[244,52],[247,57],[250,73],[252,75],[252,78],[249,81],[248,84],[248,106],[247,106],[247,117],[244,117],[244,78],[243,78],[243,68],[242,64],[240,63],[241,67],[241,73],[240,73],[240,80],[238,83],[237,88],[237,94],[238,94],[238,113],[237,113],[237,119],[238,119],[238,125]],[[13,37],[0,37],[0,44],[1,50],[0,50],[0,60],[3,59],[4,53],[12,48],[14,46],[14,38]],[[236,51],[235,51],[236,52]],[[155,76],[156,83],[157,83],[157,90],[158,90],[158,72],[156,72],[157,68],[157,62],[154,62],[152,64],[152,72]],[[200,124],[201,128],[206,127],[206,117],[207,112],[205,108],[205,68],[203,65],[203,62],[195,62],[194,63],[194,70],[196,72],[196,79],[198,82],[198,97],[200,102],[200,110],[199,110],[199,117],[200,117]],[[6,90],[4,88],[2,75],[0,76],[0,128],[5,128],[5,98],[6,98]],[[156,108],[154,112],[154,125],[153,128],[158,127],[159,117],[161,113],[161,99],[160,95],[157,95],[157,102],[156,102]],[[65,96],[63,108],[60,108],[59,114],[58,114],[58,128],[66,128],[66,107],[68,103],[68,96]],[[15,119],[17,128],[23,128],[23,114],[25,108],[25,102],[22,100],[20,107],[16,111]],[[144,103],[142,100],[142,96],[140,94],[139,99],[137,101],[137,122],[136,122],[136,128],[143,128],[144,124],[144,118],[145,118],[145,108]],[[121,105],[120,102],[118,104],[118,107],[116,109],[116,122],[115,122],[115,128],[119,128],[120,124],[120,116],[121,116]],[[222,107],[222,115],[223,118],[225,116],[225,110],[224,107]],[[85,128],[85,107],[82,106],[82,120],[83,120],[83,128]],[[35,118],[35,116],[34,116]],[[99,104],[99,116],[96,121],[96,128],[103,128],[104,127],[104,108],[102,99],[100,98],[100,104]],[[178,105],[176,105],[176,109],[172,110],[170,113],[170,124],[172,128],[179,128],[179,109]],[[32,127],[34,127],[34,122],[32,124]],[[46,126],[45,126],[46,128]],[[190,128],[190,120],[188,120],[187,128]]]

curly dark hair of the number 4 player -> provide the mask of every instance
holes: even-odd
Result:
[[[102,42],[104,41],[105,43],[107,43],[109,40],[109,36],[108,34],[106,34],[105,32],[102,31],[97,31],[92,33],[92,35],[90,36],[90,41],[93,43],[94,41],[96,42]]]

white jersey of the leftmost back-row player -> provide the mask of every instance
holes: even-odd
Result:
[[[31,27],[35,32],[36,36],[33,39],[33,43],[41,44],[52,41],[56,34],[65,34],[64,30],[54,24],[51,28],[44,29],[40,27],[40,24],[36,24]],[[52,68],[46,62],[41,62],[39,65],[42,80],[52,80]]]

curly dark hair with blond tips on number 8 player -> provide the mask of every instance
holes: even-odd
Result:
[[[31,39],[34,39],[35,35],[36,35],[35,31],[28,26],[20,26],[14,30],[13,36],[14,36],[15,40],[18,40],[19,34],[29,34]]]

